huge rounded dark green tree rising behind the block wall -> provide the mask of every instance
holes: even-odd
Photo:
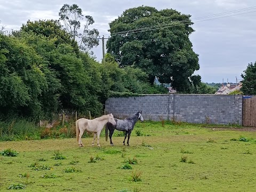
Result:
[[[160,83],[171,83],[179,92],[191,92],[192,74],[199,65],[189,41],[194,31],[189,18],[172,9],[158,11],[140,6],[126,10],[109,24],[108,52],[121,67],[145,71],[151,85],[157,77]]]

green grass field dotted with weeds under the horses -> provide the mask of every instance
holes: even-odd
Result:
[[[0,191],[255,191],[255,133],[138,122],[129,147],[117,131],[113,147],[103,135],[101,147],[92,138],[82,148],[75,138],[2,141]]]

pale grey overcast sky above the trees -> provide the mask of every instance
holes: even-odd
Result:
[[[190,41],[195,53],[199,54],[200,65],[195,74],[201,75],[202,82],[205,83],[221,83],[222,79],[224,82],[235,83],[236,77],[238,81],[241,79],[248,63],[256,61],[255,0],[0,0],[0,26],[4,26],[6,30],[16,30],[27,20],[59,19],[58,13],[63,4],[77,4],[84,15],[91,15],[95,21],[92,27],[99,30],[101,37],[108,37],[109,22],[133,7],[144,5],[157,10],[175,9],[183,14],[190,14],[195,30],[190,35]],[[251,10],[221,15],[233,15],[231,17],[196,20],[207,15],[249,7]],[[245,14],[234,15],[239,13]],[[101,42],[93,51],[97,60],[101,61]]]

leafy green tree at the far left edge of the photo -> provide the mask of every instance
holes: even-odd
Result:
[[[38,117],[39,97],[47,86],[42,58],[26,43],[11,36],[1,35],[0,50],[2,113]]]

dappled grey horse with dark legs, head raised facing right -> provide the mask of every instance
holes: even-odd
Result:
[[[131,117],[128,117],[125,119],[114,118],[116,125],[107,123],[106,128],[105,128],[106,141],[108,141],[108,131],[109,131],[110,145],[111,146],[114,145],[112,142],[112,135],[116,129],[118,131],[125,131],[123,145],[125,145],[125,139],[128,135],[127,146],[129,146],[130,135],[131,135],[131,132],[133,130],[135,123],[138,121],[138,119],[140,119],[140,121],[142,121],[142,122],[144,121],[141,113],[142,113],[142,111],[139,111],[139,112],[133,114]]]

